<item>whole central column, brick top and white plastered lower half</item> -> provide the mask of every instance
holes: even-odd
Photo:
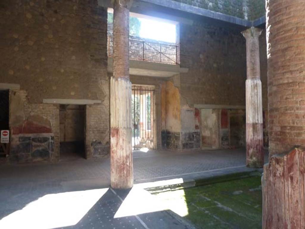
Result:
[[[113,77],[110,80],[111,187],[133,186],[131,82],[129,81],[129,5],[114,0]]]

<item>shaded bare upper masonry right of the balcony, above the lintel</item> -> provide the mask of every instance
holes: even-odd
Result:
[[[201,22],[180,26],[181,105],[245,106],[246,41],[240,31]],[[267,64],[264,35],[260,40],[263,107],[267,108]]]

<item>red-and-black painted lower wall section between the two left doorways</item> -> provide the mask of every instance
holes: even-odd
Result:
[[[10,160],[59,159],[59,105],[30,104],[25,90],[9,94]]]

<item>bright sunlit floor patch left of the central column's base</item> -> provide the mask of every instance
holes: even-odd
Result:
[[[0,228],[52,229],[77,224],[108,188],[47,194],[0,220]]]

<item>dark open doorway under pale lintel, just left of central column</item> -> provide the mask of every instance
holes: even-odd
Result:
[[[85,106],[61,104],[59,108],[60,159],[85,158]]]

